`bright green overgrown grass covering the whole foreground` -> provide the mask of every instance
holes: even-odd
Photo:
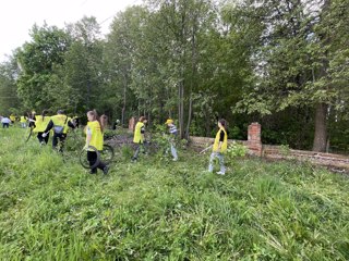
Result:
[[[349,260],[349,178],[298,162],[132,151],[105,176],[0,129],[0,260]]]

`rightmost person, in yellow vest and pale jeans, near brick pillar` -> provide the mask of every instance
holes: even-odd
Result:
[[[224,154],[227,151],[227,147],[228,147],[228,135],[227,135],[226,126],[227,126],[226,120],[220,119],[218,121],[219,130],[216,134],[215,142],[213,146],[213,151],[210,153],[209,164],[208,164],[208,172],[213,172],[214,159],[218,158],[219,165],[220,165],[220,170],[219,172],[217,172],[218,175],[226,174],[225,159],[224,159]]]

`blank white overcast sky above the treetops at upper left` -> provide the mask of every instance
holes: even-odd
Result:
[[[95,16],[104,34],[109,32],[112,16],[141,0],[1,0],[0,62],[5,54],[29,40],[29,29],[36,23],[64,27],[84,15]]]

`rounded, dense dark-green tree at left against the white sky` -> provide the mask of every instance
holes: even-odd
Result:
[[[26,108],[43,110],[51,107],[51,100],[60,91],[61,86],[49,83],[55,66],[64,62],[70,37],[62,29],[46,24],[43,27],[34,25],[31,37],[32,41],[25,42],[16,53],[21,69],[17,92]]]

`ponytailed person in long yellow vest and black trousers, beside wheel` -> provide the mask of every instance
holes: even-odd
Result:
[[[104,127],[106,117],[101,117],[101,121],[98,119],[98,114],[96,110],[88,111],[87,112],[87,126],[86,126],[86,145],[85,148],[87,149],[87,161],[89,162],[89,166],[95,165],[97,160],[97,152],[94,150],[88,150],[89,146],[95,147],[97,150],[103,150],[103,144],[104,144]],[[96,174],[97,169],[100,169],[104,174],[108,174],[109,166],[104,163],[103,161],[99,161],[98,165],[96,167],[91,169],[91,174]]]

